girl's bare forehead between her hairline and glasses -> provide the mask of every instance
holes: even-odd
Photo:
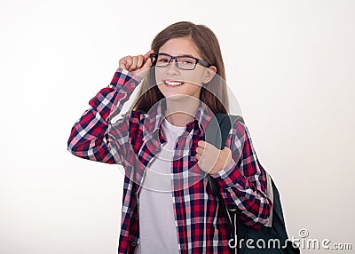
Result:
[[[171,56],[179,55],[192,55],[193,57],[200,58],[199,51],[193,40],[188,37],[170,39],[162,45],[159,49],[160,53],[167,53]]]

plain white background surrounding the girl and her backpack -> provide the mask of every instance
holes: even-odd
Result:
[[[116,252],[122,172],[67,138],[118,60],[180,20],[216,33],[290,237],[355,248],[355,1],[0,3],[0,253]]]

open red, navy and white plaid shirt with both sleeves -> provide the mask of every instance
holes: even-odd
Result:
[[[134,253],[139,243],[138,191],[146,168],[166,142],[160,128],[163,120],[160,102],[147,113],[132,110],[111,123],[139,83],[137,76],[118,68],[110,85],[90,100],[91,108],[75,123],[67,143],[73,155],[122,164],[124,168],[119,253]],[[200,103],[193,120],[177,137],[171,186],[180,253],[231,252],[227,219],[217,197],[211,193],[208,179],[201,177],[195,158],[197,142],[204,140],[204,130],[212,115]],[[217,179],[225,204],[236,206],[249,226],[266,224],[272,203],[266,195],[264,169],[257,160],[245,124],[233,123],[225,146],[232,150],[233,160],[211,175]]]

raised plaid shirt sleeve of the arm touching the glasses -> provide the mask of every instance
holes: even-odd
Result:
[[[118,68],[111,83],[97,93],[89,102],[91,106],[74,124],[67,149],[73,155],[102,163],[122,163],[123,137],[128,135],[130,114],[117,120],[115,130],[120,130],[114,149],[109,142],[110,121],[121,112],[123,104],[140,83],[140,78],[127,70]],[[121,141],[120,141],[121,140]]]

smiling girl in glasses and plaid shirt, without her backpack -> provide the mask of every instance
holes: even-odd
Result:
[[[206,175],[245,224],[268,222],[272,203],[245,124],[233,123],[222,150],[204,141],[212,116],[228,113],[224,80],[213,32],[177,22],[145,55],[122,58],[110,85],[75,123],[73,155],[124,168],[119,253],[235,251]],[[141,82],[133,106],[111,123]]]

